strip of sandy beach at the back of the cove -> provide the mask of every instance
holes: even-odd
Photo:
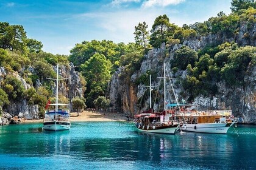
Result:
[[[85,110],[84,112],[71,112],[70,121],[126,121],[122,114],[108,113],[108,112],[92,112]],[[34,123],[34,122],[43,122],[43,119],[40,120],[22,120],[23,123]]]

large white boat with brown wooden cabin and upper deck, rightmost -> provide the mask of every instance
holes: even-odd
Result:
[[[232,110],[197,110],[190,104],[168,104],[168,110],[180,122],[180,130],[210,134],[226,134],[230,127],[238,122]],[[176,110],[174,108],[178,108]],[[180,108],[181,107],[181,108]]]

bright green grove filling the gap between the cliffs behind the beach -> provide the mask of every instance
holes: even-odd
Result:
[[[74,63],[87,81],[86,105],[95,107],[93,101],[104,96],[111,75],[119,66],[126,66],[137,60],[137,53],[143,53],[142,44],[113,41],[83,41],[70,51],[69,61]],[[133,53],[136,53],[133,55]]]

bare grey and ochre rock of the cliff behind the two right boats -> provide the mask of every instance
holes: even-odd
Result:
[[[168,68],[171,67],[174,52],[180,49],[182,45],[188,46],[191,49],[198,50],[207,46],[207,44],[219,43],[219,42],[231,42],[235,41],[239,46],[255,46],[255,34],[256,34],[256,24],[254,24],[253,29],[249,32],[251,38],[246,38],[244,35],[248,32],[246,26],[243,24],[238,32],[233,38],[226,38],[224,35],[208,35],[203,36],[200,39],[184,41],[183,44],[175,44],[168,48],[165,44],[162,44],[160,49],[152,49],[144,56],[144,60],[141,63],[140,70],[137,70],[130,77],[130,81],[123,81],[122,74],[124,74],[124,69],[119,69],[116,72],[110,83],[108,84],[109,98],[113,110],[121,110],[125,114],[134,115],[140,112],[140,109],[146,109],[148,107],[149,98],[146,100],[146,105],[140,108],[138,99],[141,98],[146,90],[143,85],[138,86],[135,83],[137,78],[147,72],[147,70],[154,70],[157,72],[157,76],[161,76],[161,71],[163,67],[163,62],[166,63]],[[166,55],[167,53],[167,55]],[[168,56],[168,57],[166,57]],[[215,97],[202,97],[198,96],[194,99],[193,104],[199,104],[201,109],[232,109],[233,115],[240,117],[240,121],[243,123],[256,124],[256,67],[251,67],[248,70],[247,76],[244,77],[244,81],[247,82],[246,86],[238,87],[236,89],[230,89],[226,86],[224,82],[218,83],[218,94]],[[172,75],[170,72],[170,77],[177,77]],[[181,78],[185,78],[187,71],[178,71]],[[184,89],[182,89],[179,78],[174,78],[172,84],[176,94],[180,94]],[[152,86],[156,85],[157,82],[153,81]],[[166,84],[167,91],[171,91],[170,84]],[[172,95],[172,100],[174,96]],[[157,106],[155,106],[157,107]]]

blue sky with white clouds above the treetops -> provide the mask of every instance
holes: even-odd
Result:
[[[134,42],[134,27],[166,14],[179,26],[203,22],[223,11],[232,0],[0,0],[0,21],[23,25],[28,38],[43,50],[69,54],[77,43],[97,39]]]

